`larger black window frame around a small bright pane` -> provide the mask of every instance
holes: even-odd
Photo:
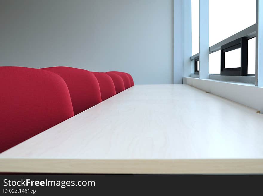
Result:
[[[235,68],[225,68],[225,53],[241,48],[241,65]],[[244,76],[247,75],[247,50],[248,39],[246,37],[238,38],[221,46],[221,75]]]

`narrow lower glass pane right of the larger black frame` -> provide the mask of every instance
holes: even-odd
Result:
[[[248,40],[247,74],[256,73],[256,38]]]

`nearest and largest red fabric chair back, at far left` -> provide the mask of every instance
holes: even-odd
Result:
[[[74,116],[68,87],[57,74],[0,67],[0,152]]]

